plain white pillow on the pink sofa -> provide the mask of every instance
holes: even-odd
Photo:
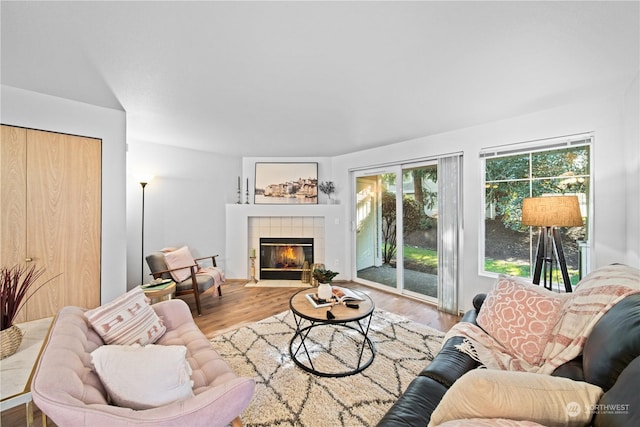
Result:
[[[91,362],[114,404],[149,409],[193,396],[186,354],[184,346],[105,345]]]

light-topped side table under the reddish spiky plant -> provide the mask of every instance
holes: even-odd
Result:
[[[0,360],[0,411],[25,404],[27,426],[33,425],[31,377],[49,334],[52,320],[53,317],[47,317],[18,323],[17,326],[23,332],[20,348],[15,354]]]

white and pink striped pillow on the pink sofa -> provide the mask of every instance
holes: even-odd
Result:
[[[156,342],[166,331],[139,286],[85,312],[85,316],[106,344],[144,346]]]

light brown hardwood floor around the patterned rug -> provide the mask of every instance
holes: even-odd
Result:
[[[222,297],[210,292],[201,296],[202,316],[198,316],[192,296],[181,297],[191,307],[191,312],[200,330],[213,337],[245,324],[289,309],[289,298],[295,288],[247,288],[244,281],[229,281],[222,288]],[[368,294],[376,308],[407,317],[418,323],[431,326],[442,332],[448,331],[460,318],[439,312],[432,304],[384,292],[353,282],[339,283],[340,286],[357,289]],[[34,410],[34,425],[40,426],[42,416]],[[27,425],[24,405],[2,412],[0,425],[18,427]],[[48,420],[47,426],[55,426]]]

